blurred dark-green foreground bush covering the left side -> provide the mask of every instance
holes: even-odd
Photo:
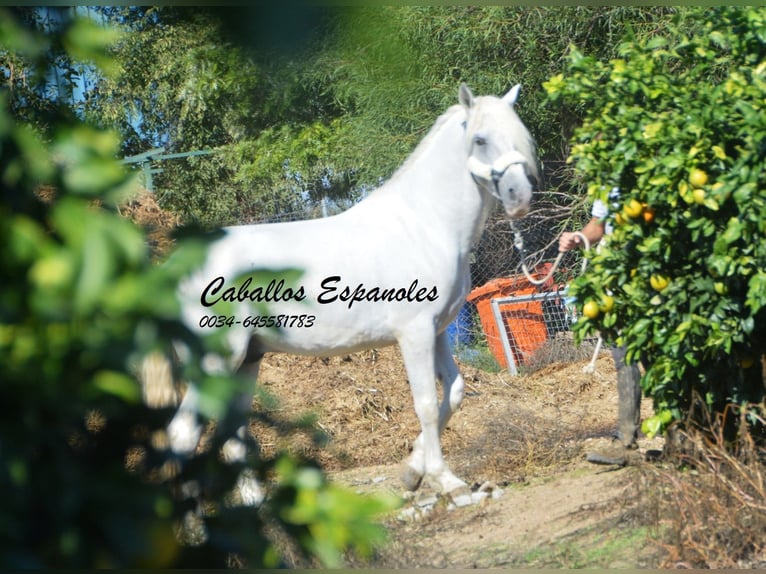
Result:
[[[101,61],[108,31],[83,29],[64,22],[52,43]],[[16,52],[44,74],[46,45],[0,10],[0,56]],[[232,426],[227,399],[252,381],[206,375],[200,357],[215,341],[177,318],[177,283],[205,241],[192,234],[166,264],[153,263],[143,231],[117,211],[132,189],[114,159],[119,138],[62,109],[36,129],[0,93],[0,566],[204,568],[236,556],[274,567],[283,559],[273,532],[327,566],[346,550],[369,553],[382,536],[371,519],[391,501],[331,485],[316,465],[255,454],[226,465],[226,436],[216,432],[209,449],[162,478],[171,455],[153,437],[170,413],[143,405],[141,359],[185,343],[182,374],[200,384],[203,418],[219,430]],[[227,503],[246,465],[270,494],[258,509]],[[186,481],[204,493],[205,535],[193,543],[176,536],[200,502],[180,494]]]

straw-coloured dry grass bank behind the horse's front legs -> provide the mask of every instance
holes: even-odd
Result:
[[[582,363],[557,363],[520,377],[461,365],[465,400],[443,435],[453,470],[476,481],[515,482],[571,462],[582,438],[604,434],[613,418],[603,402],[614,393],[614,367],[607,355],[598,365],[595,375],[584,374]],[[286,439],[254,423],[266,454],[289,446],[331,471],[396,465],[420,432],[395,348],[324,359],[267,355],[259,378],[278,398],[271,415],[313,413],[314,428],[329,439],[319,448],[311,432]],[[575,403],[574,412],[562,408]]]

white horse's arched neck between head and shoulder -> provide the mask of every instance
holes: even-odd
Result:
[[[421,218],[431,235],[442,235],[467,254],[484,229],[492,201],[476,188],[466,165],[460,117],[437,123],[391,179],[391,192]]]

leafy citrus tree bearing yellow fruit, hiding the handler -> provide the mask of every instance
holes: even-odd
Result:
[[[667,33],[628,35],[618,53],[573,48],[545,83],[583,114],[569,161],[613,227],[572,284],[588,307],[577,336],[645,363],[645,430],[705,410],[762,429],[766,10],[679,9]]]

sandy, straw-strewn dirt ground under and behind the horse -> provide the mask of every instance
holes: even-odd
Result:
[[[461,365],[466,396],[443,435],[453,472],[473,485],[494,485],[496,497],[456,509],[437,503],[428,488],[386,519],[389,542],[378,568],[653,567],[658,549],[635,520],[639,469],[595,466],[585,453],[609,441],[617,397],[611,356],[558,363],[511,376]],[[404,491],[400,463],[419,432],[404,367],[396,348],[344,357],[270,355],[261,384],[278,398],[276,416],[313,413],[326,438],[309,432],[277,439],[253,432],[269,451],[289,448],[318,458],[332,478],[359,491]],[[648,401],[642,414],[651,414]],[[643,438],[641,451],[661,448]]]

